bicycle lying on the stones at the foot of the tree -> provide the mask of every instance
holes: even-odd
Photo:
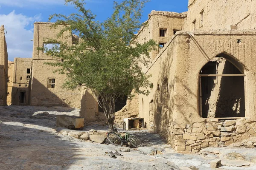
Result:
[[[125,136],[123,137],[118,133],[118,131],[119,130],[117,129],[113,129],[112,132],[108,133],[107,139],[111,144],[115,146],[122,146],[123,143],[127,143],[130,147],[133,146],[135,148],[142,146],[140,139],[138,139],[136,136],[133,136],[125,131]]]

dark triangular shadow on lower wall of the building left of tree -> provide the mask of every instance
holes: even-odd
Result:
[[[72,103],[67,103],[66,98],[60,99],[54,92],[54,88],[49,90],[37,79],[33,78],[33,89],[31,91],[31,105],[32,106],[63,106],[69,108]],[[57,93],[65,97],[66,89],[63,91],[58,91]],[[69,94],[70,96],[70,94]],[[72,95],[71,95],[72,96]],[[76,93],[73,94],[74,97],[77,96]]]

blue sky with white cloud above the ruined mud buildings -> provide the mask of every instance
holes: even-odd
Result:
[[[85,0],[87,8],[97,15],[96,20],[103,21],[113,11],[113,0]],[[116,0],[121,2],[122,0]],[[152,10],[187,11],[188,0],[151,0],[146,3],[144,22]],[[70,14],[76,12],[73,6],[65,6],[64,0],[0,0],[0,25],[7,31],[6,41],[9,60],[15,57],[32,57],[33,23],[47,22],[50,14]]]

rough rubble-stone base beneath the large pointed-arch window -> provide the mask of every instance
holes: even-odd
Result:
[[[170,142],[178,152],[196,153],[205,147],[223,147],[256,136],[256,121],[205,119],[191,125],[174,125]]]

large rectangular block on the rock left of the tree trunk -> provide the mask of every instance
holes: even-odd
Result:
[[[77,116],[57,115],[56,126],[66,127],[68,129],[82,129],[84,127],[84,118]]]

